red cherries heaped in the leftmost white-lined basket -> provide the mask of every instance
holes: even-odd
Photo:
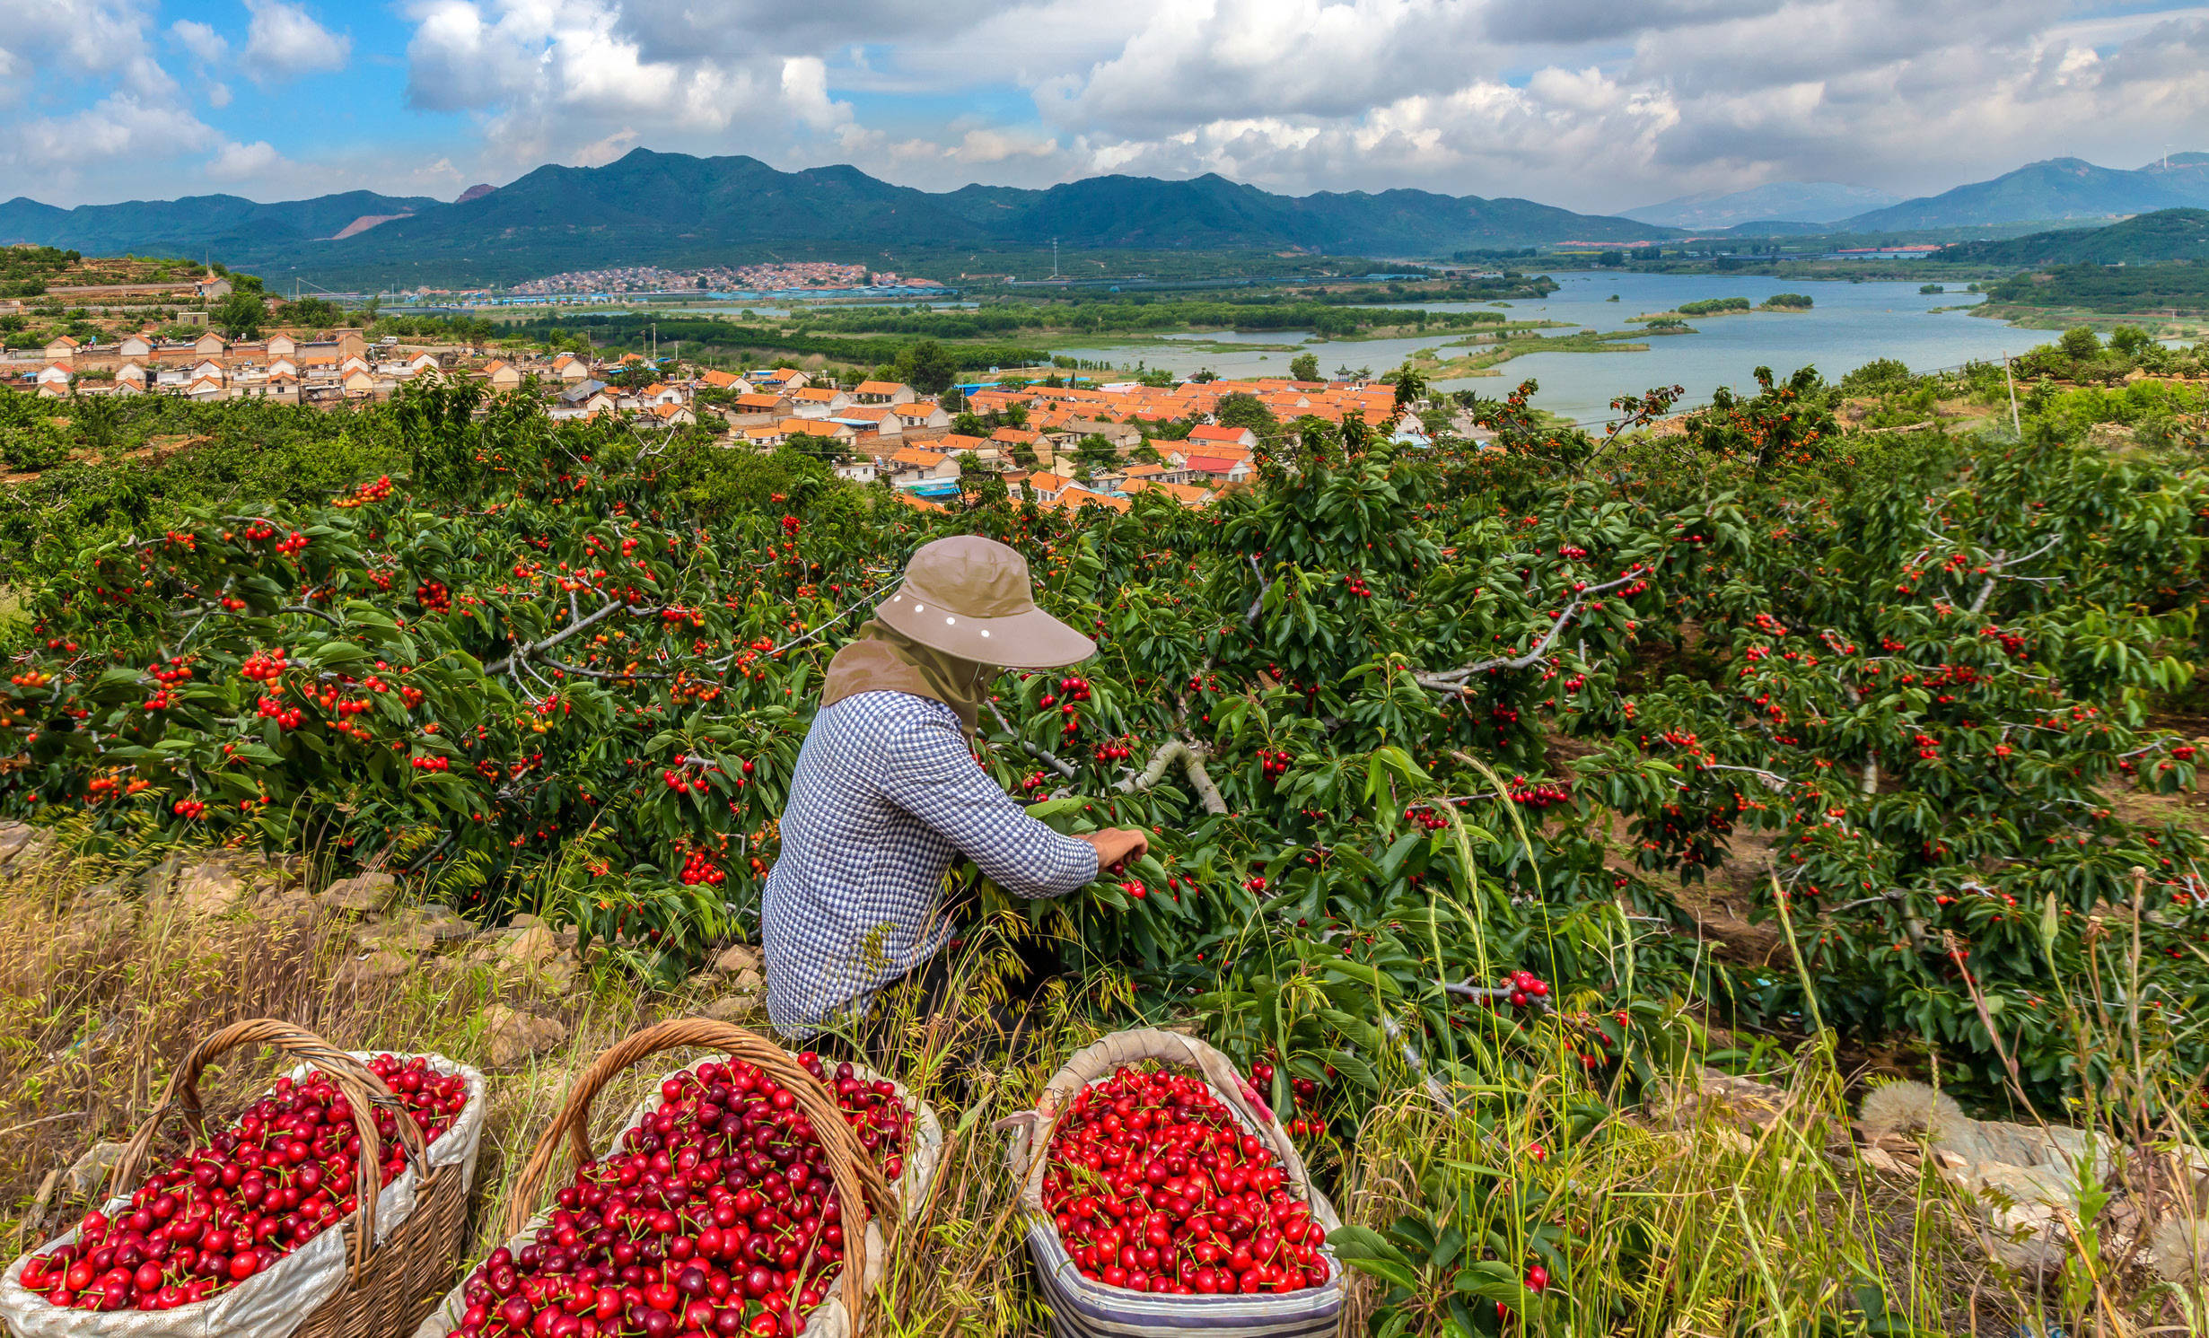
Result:
[[[181,808],[181,806],[179,806]],[[457,1073],[420,1055],[376,1055],[369,1071],[437,1141],[468,1104]],[[398,1117],[376,1111],[382,1186],[406,1166]],[[351,1217],[360,1133],[329,1075],[278,1077],[208,1146],[146,1177],[115,1217],[86,1212],[77,1239],[22,1267],[22,1285],[73,1309],[177,1309],[225,1292]]]

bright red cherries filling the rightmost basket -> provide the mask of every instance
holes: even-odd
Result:
[[[1328,1232],[1272,1150],[1186,1073],[1120,1069],[1051,1130],[1043,1201],[1082,1276],[1133,1292],[1299,1292]]]

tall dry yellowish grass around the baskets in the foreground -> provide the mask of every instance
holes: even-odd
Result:
[[[82,1208],[49,1181],[93,1144],[128,1137],[197,1038],[276,1016],[340,1047],[437,1051],[490,1073],[473,1256],[490,1245],[512,1175],[590,1060],[638,1027],[702,1011],[720,987],[700,978],[649,991],[607,963],[550,987],[459,954],[353,985],[347,921],[307,912],[303,899],[192,921],[130,892],[135,872],[75,859],[0,879],[0,1245],[35,1243]],[[897,1228],[870,1331],[1047,1331],[994,1124],[1098,1036],[1087,1016],[1093,985],[1040,991],[1018,1044],[992,1020],[987,1005],[1003,987],[987,971],[965,983],[950,1013],[901,1020],[892,1075],[939,1108],[948,1146],[926,1203]],[[484,1027],[493,1002],[557,1016],[568,1040],[493,1071]],[[647,1060],[607,1091],[599,1137],[658,1071],[694,1058]],[[2063,1316],[2112,1338],[2147,1338],[2182,1314],[2127,1281],[2123,1265],[2085,1287],[2083,1303],[2065,1298],[2061,1276],[1988,1265],[1931,1175],[1875,1177],[1856,1159],[1849,1082],[1822,1044],[1780,1064],[1763,1077],[1785,1089],[1787,1113],[1763,1128],[1716,1104],[1677,1104],[1670,1115],[1619,1104],[1560,1055],[1553,1075],[1460,1091],[1449,1111],[1407,1084],[1356,1113],[1356,1137],[1317,1141],[1310,1155],[1352,1223],[1387,1228],[1403,1214],[1480,1223],[1456,1263],[1520,1267],[1535,1232],[1564,1228],[1571,1245],[1551,1294],[1513,1312],[1507,1331],[2008,1338],[2019,1320]],[[208,1084],[214,1111],[256,1093],[276,1066],[272,1055],[234,1055]],[[1544,1155],[1533,1159],[1537,1141]],[[453,1263],[457,1278],[464,1261]],[[1447,1292],[1447,1274],[1436,1276]],[[1442,1334],[1440,1300],[1436,1292],[1389,1307],[1361,1281],[1352,1325]]]

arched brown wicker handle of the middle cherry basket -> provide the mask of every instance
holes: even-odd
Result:
[[[669,1018],[634,1031],[627,1038],[607,1047],[590,1069],[583,1071],[574,1082],[574,1091],[568,1093],[568,1102],[561,1106],[552,1124],[546,1126],[543,1135],[537,1137],[537,1148],[530,1150],[528,1164],[521,1175],[515,1177],[515,1188],[506,1199],[506,1221],[499,1228],[501,1239],[519,1236],[530,1217],[537,1210],[537,1199],[543,1188],[546,1172],[559,1157],[561,1144],[570,1146],[577,1164],[590,1161],[590,1104],[599,1091],[614,1080],[616,1073],[636,1064],[645,1055],[660,1051],[702,1047],[727,1053],[731,1060],[742,1060],[764,1069],[775,1082],[797,1097],[797,1108],[813,1124],[813,1135],[820,1137],[822,1150],[828,1155],[828,1177],[835,1181],[837,1199],[844,1203],[844,1309],[850,1312],[853,1331],[859,1329],[859,1303],[864,1300],[866,1274],[866,1217],[873,1210],[877,1217],[890,1221],[897,1219],[897,1201],[890,1197],[890,1186],[881,1177],[881,1170],[859,1146],[859,1137],[844,1122],[844,1111],[837,1108],[835,1095],[811,1073],[806,1073],[797,1060],[789,1055],[775,1042],[736,1027],[731,1022],[716,1022],[711,1018]]]

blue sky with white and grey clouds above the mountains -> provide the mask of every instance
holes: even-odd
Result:
[[[943,190],[1619,210],[2209,150],[2209,2],[11,0],[0,199],[451,199],[645,146]]]

